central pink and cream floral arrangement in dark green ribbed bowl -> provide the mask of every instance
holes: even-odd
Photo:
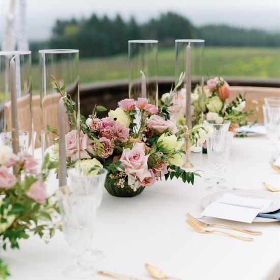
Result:
[[[68,106],[65,87],[60,87],[58,82],[55,85]],[[104,167],[108,170],[105,188],[117,197],[133,197],[162,178],[180,177],[183,182],[193,184],[194,176],[199,174],[181,169],[182,145],[185,137],[192,138],[195,144],[201,136],[194,135],[186,126],[177,128],[170,120],[173,95],[171,92],[160,109],[146,98],[124,99],[105,118],[97,118],[98,110],[106,111],[103,106],[95,106],[88,117],[80,116],[79,136],[77,130],[65,136],[68,167],[79,164],[79,153],[83,175],[95,174],[98,168]],[[67,112],[75,114],[73,107],[68,106]],[[209,131],[205,127],[201,129],[206,138]]]

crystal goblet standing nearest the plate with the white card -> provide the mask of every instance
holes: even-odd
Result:
[[[212,185],[206,189],[210,191],[225,190],[227,187],[221,186],[226,180],[221,175],[226,172],[229,163],[230,151],[234,133],[227,131],[226,133],[212,135],[207,139],[207,155],[213,178],[206,179],[206,182]]]

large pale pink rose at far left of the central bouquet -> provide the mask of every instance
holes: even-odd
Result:
[[[92,143],[93,141],[88,137],[87,134],[80,131],[80,158],[91,158],[87,151],[93,153]],[[71,130],[65,135],[65,144],[66,144],[66,156],[71,157],[72,161],[75,161],[79,158],[79,153],[77,151],[78,146],[78,137],[77,131]]]

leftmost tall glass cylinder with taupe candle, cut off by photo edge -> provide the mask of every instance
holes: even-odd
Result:
[[[31,51],[0,51],[0,143],[34,152]]]

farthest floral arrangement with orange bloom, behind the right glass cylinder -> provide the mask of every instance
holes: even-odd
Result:
[[[163,94],[164,101],[170,93]],[[191,94],[192,125],[193,127],[201,122],[202,113],[206,120],[222,123],[223,120],[231,122],[230,130],[235,132],[238,126],[247,125],[247,117],[254,114],[254,110],[244,110],[246,106],[245,95],[239,96],[228,102],[230,97],[230,86],[222,77],[215,77],[207,80],[207,85],[202,88],[197,86]],[[182,88],[174,97],[171,119],[177,125],[185,123],[186,111],[186,89]]]

